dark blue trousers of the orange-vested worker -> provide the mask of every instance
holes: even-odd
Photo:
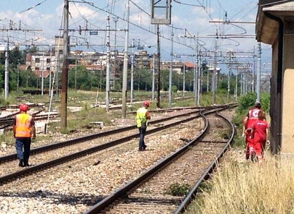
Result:
[[[28,164],[28,158],[30,153],[30,143],[31,138],[16,138],[15,147],[17,158],[19,160],[24,160],[24,164]]]

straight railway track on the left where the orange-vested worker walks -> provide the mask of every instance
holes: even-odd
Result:
[[[181,123],[191,121],[199,117],[199,111],[193,111],[176,116],[172,116],[165,119],[155,120],[151,123],[154,126],[152,129],[147,130],[147,135],[153,134],[165,129],[169,129],[173,126],[177,126]],[[160,124],[163,121],[170,120],[168,124]],[[123,132],[125,131],[125,133]],[[129,132],[131,130],[131,133]],[[128,132],[127,132],[128,131]],[[119,133],[119,136],[111,136]],[[103,136],[103,137],[102,137]],[[92,139],[99,138],[93,141]],[[107,148],[114,147],[116,145],[126,143],[134,138],[139,137],[135,126],[129,126],[107,132],[102,132],[94,135],[85,136],[79,139],[73,139],[66,142],[49,144],[43,147],[37,147],[32,149],[32,155],[30,160],[37,163],[34,166],[20,168],[18,167],[18,161],[16,160],[16,154],[0,157],[0,167],[3,169],[0,172],[0,183],[6,182],[11,179],[15,179],[37,170],[42,170],[54,165],[58,165],[64,162],[71,161],[73,159],[101,151]],[[107,143],[105,143],[107,142]],[[37,155],[36,153],[40,153]]]

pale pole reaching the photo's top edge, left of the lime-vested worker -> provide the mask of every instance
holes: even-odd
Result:
[[[124,37],[124,58],[123,58],[123,107],[122,107],[122,116],[126,118],[126,92],[127,92],[127,65],[128,65],[128,36],[129,36],[129,16],[130,16],[130,0],[126,0],[126,31]]]

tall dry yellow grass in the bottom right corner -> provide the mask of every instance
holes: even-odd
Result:
[[[293,159],[280,162],[268,156],[264,165],[258,166],[227,157],[203,187],[189,213],[294,213]]]

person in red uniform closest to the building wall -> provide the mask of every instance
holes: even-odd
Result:
[[[254,151],[259,164],[264,160],[264,149],[269,136],[269,124],[266,121],[266,115],[263,111],[259,111],[258,119],[251,125],[251,138],[249,150]]]

